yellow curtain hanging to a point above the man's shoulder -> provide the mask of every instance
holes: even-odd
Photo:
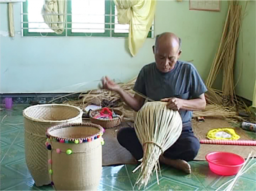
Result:
[[[135,56],[143,46],[154,20],[156,0],[114,0],[120,24],[130,24],[128,46]]]

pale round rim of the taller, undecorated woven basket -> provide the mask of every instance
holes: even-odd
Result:
[[[76,116],[76,117],[72,117],[70,119],[67,119],[67,120],[42,120],[42,119],[38,119],[38,118],[34,118],[34,117],[29,117],[26,112],[29,110],[29,109],[32,109],[32,108],[40,108],[40,107],[69,107],[69,108],[73,108],[73,109],[76,109],[77,111],[79,111],[79,114]],[[53,104],[38,104],[38,105],[31,105],[27,108],[25,108],[23,110],[23,117],[25,117],[26,119],[28,120],[32,120],[34,122],[39,122],[39,123],[68,123],[68,122],[72,122],[73,120],[76,120],[76,119],[79,119],[81,118],[83,115],[83,111],[81,110],[81,108],[79,107],[76,107],[74,105],[68,105],[68,104],[57,104],[57,103],[53,103]]]

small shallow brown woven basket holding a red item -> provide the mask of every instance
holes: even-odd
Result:
[[[109,120],[102,120],[102,119],[96,119],[94,118],[94,116],[96,114],[98,114],[99,111],[101,111],[102,109],[96,109],[94,111],[90,112],[90,121],[94,124],[98,124],[101,125],[103,128],[113,128],[116,127],[118,125],[120,125],[120,123],[123,120],[124,114],[122,111],[120,111],[119,109],[110,109],[111,111],[114,111],[115,114],[118,114],[120,117],[116,117],[113,119],[109,119]]]

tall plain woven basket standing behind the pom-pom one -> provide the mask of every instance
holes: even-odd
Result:
[[[50,183],[45,148],[47,128],[64,123],[81,123],[82,114],[80,108],[63,104],[34,105],[24,109],[26,164],[37,186]]]

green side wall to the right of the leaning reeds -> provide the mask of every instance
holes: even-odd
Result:
[[[243,6],[246,1],[239,2]],[[236,94],[253,100],[256,80],[256,2],[248,1],[241,33],[237,45],[236,68],[234,72]]]

